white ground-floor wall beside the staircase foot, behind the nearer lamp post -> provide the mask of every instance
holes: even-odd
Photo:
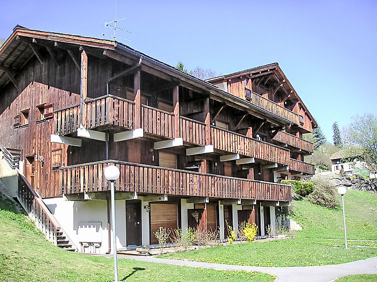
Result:
[[[88,200],[88,201],[67,201],[62,197],[43,199],[56,220],[73,241],[80,251],[80,242],[83,241],[79,237],[78,228],[82,223],[100,222],[100,234],[93,234],[93,237],[87,236],[86,242],[98,240],[101,238],[100,253],[104,254],[109,249],[108,229],[107,229],[107,202],[104,200]],[[125,200],[115,201],[116,214],[116,235],[117,248],[126,247],[126,218],[125,218]],[[110,220],[111,221],[111,220]],[[112,235],[111,235],[112,240]]]

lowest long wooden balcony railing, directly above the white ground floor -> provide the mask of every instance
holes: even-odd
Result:
[[[60,168],[64,194],[108,191],[103,175],[106,166],[120,170],[116,191],[213,198],[291,201],[291,187],[279,183],[219,176],[180,169],[136,164],[117,160],[71,165]],[[59,173],[58,171],[55,173]]]

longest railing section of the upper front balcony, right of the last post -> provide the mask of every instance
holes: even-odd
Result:
[[[274,144],[211,126],[215,149],[289,165],[290,151]]]

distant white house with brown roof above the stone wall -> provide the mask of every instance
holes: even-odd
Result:
[[[333,162],[331,166],[331,171],[334,173],[346,173],[350,174],[355,168],[366,169],[367,163],[365,161],[361,161],[359,155],[355,156],[348,156],[345,157],[345,151],[339,150],[333,153],[330,157],[331,161]],[[345,159],[353,159],[352,161],[345,161]]]

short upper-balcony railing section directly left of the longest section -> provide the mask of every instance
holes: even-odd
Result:
[[[186,117],[179,117],[180,137],[183,141],[204,146],[206,142],[206,124]]]

